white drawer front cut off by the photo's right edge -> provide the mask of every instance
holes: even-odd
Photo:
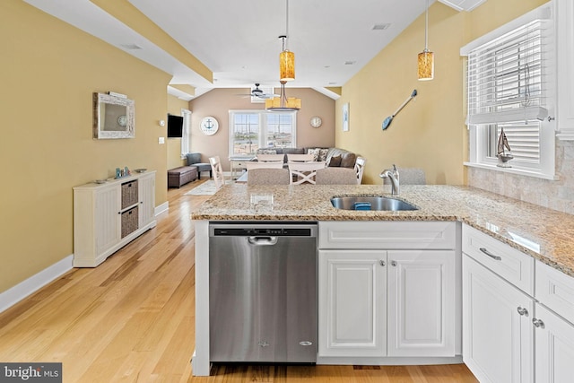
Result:
[[[574,323],[574,278],[536,261],[535,298]]]

